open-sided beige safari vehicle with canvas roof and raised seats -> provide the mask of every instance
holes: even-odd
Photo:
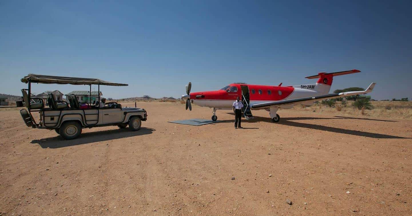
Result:
[[[47,99],[49,107],[45,107],[42,99],[30,97],[32,83],[89,85],[90,93],[91,85],[98,85],[98,92],[100,92],[100,85],[127,86],[127,84],[111,83],[93,78],[38,74],[28,74],[21,79],[21,82],[28,83],[28,89],[21,90],[27,108],[27,110],[20,110],[24,123],[28,127],[55,130],[68,140],[80,136],[83,128],[117,125],[119,128],[129,126],[130,130],[138,131],[142,121],[147,119],[145,109],[122,108],[122,105],[116,102],[106,103],[107,106],[100,108],[98,105],[95,106],[89,103],[80,104],[74,95],[68,96],[68,102],[56,101],[54,95],[49,93],[49,98]],[[98,96],[98,101],[100,101],[100,95]],[[40,113],[39,123],[33,118],[33,112]]]

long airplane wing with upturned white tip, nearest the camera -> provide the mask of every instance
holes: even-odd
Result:
[[[367,94],[372,92],[373,87],[375,87],[376,83],[371,83],[369,87],[365,91],[355,91],[355,92],[341,92],[341,93],[334,93],[334,94],[325,94],[319,95],[314,97],[304,97],[304,98],[297,98],[297,99],[290,99],[290,100],[283,100],[283,101],[274,101],[274,102],[267,102],[267,103],[258,103],[252,105],[252,108],[269,108],[271,106],[279,106],[285,104],[297,104],[303,101],[320,101],[325,99],[332,99],[332,98],[339,98],[339,97],[348,97],[357,94]]]

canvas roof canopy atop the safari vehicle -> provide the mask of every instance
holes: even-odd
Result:
[[[94,78],[78,78],[65,76],[48,76],[40,74],[28,74],[21,79],[21,82],[28,83],[28,80],[34,83],[44,84],[72,84],[72,85],[113,85],[113,86],[127,86],[122,83],[112,83],[105,80]]]

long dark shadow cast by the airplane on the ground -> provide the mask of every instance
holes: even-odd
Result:
[[[233,113],[227,113],[234,115]],[[335,128],[335,127],[330,127],[330,126],[323,126],[323,125],[318,125],[318,124],[308,124],[308,123],[302,123],[302,122],[292,122],[291,120],[313,120],[313,119],[362,119],[362,120],[368,120],[368,121],[384,121],[384,122],[396,122],[396,121],[390,121],[390,120],[379,120],[379,119],[364,119],[364,118],[353,118],[353,117],[341,117],[337,116],[335,118],[322,118],[322,117],[286,117],[282,118],[281,120],[277,123],[273,123],[272,119],[269,117],[257,117],[255,116],[254,119],[249,119],[245,120],[242,119],[242,122],[269,122],[273,124],[283,124],[283,125],[288,125],[288,126],[294,126],[294,127],[303,127],[303,128],[309,128],[309,129],[316,129],[316,130],[321,130],[321,131],[331,131],[335,133],[344,133],[344,134],[349,134],[349,135],[355,135],[355,136],[364,136],[364,137],[370,137],[370,138],[387,138],[387,139],[411,139],[408,137],[401,137],[401,136],[392,136],[392,135],[386,135],[386,134],[381,134],[381,133],[371,133],[371,132],[365,132],[365,131],[356,131],[356,130],[350,130],[350,129],[342,129],[342,128]],[[234,122],[234,120],[226,120],[225,122]]]

